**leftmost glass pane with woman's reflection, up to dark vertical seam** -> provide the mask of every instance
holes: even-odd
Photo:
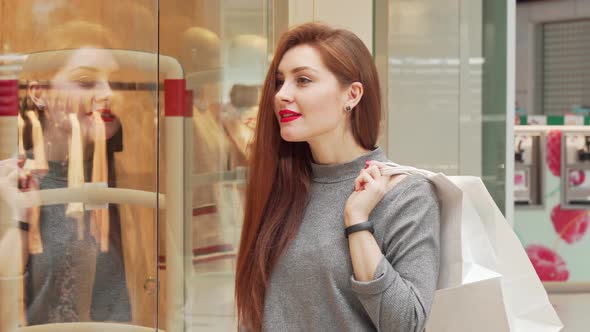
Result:
[[[1,158],[22,175],[0,241],[24,249],[0,330],[153,330],[160,78],[182,78],[158,61],[158,2],[0,3]]]

